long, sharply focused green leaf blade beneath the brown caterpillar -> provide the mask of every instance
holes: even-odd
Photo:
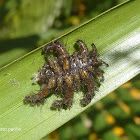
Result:
[[[75,93],[74,104],[68,110],[50,110],[55,95],[45,105],[31,107],[23,104],[24,96],[38,90],[32,74],[44,63],[42,47],[30,52],[0,71],[0,139],[40,139],[60,127],[89,106],[130,80],[140,72],[140,2],[127,1],[79,28],[60,37],[67,50],[74,51],[77,39],[86,42],[89,49],[94,42],[100,58],[110,67],[103,68],[105,81],[92,102],[81,107],[82,93]],[[13,129],[12,129],[13,128]]]

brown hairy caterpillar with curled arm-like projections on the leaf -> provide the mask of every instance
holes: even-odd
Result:
[[[46,97],[52,93],[61,93],[62,100],[56,100],[52,108],[70,108],[73,102],[75,90],[80,90],[83,85],[87,88],[81,104],[89,104],[98,89],[99,82],[104,81],[103,72],[100,66],[104,61],[98,60],[98,53],[95,45],[92,43],[92,50],[88,51],[86,44],[82,40],[77,40],[80,51],[69,54],[65,46],[58,40],[52,42],[43,48],[47,57],[48,51],[56,51],[58,57],[51,57],[44,64],[36,76],[36,80],[41,84],[38,94],[32,94],[25,97],[25,103],[31,105],[40,105],[45,102]]]

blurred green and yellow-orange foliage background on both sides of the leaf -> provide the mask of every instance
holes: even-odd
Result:
[[[124,1],[0,0],[0,67]],[[139,132],[140,75],[42,140],[139,140]]]

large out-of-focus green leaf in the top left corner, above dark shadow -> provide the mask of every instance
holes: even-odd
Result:
[[[46,32],[59,15],[62,4],[63,0],[3,2],[3,7],[0,7],[0,37],[19,38]]]

